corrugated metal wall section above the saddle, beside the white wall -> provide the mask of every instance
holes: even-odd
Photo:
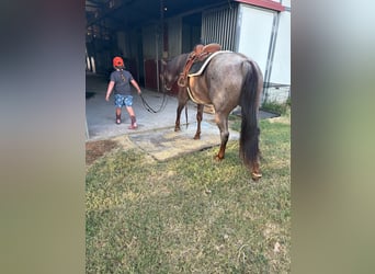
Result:
[[[202,13],[204,44],[218,43],[223,49],[235,50],[237,4],[225,5]]]

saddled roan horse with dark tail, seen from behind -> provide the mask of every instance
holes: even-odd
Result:
[[[166,90],[171,90],[183,71],[189,54],[162,61],[162,82]],[[220,148],[217,160],[224,159],[227,146],[228,115],[237,106],[241,106],[241,134],[239,152],[246,167],[251,170],[251,178],[258,180],[260,172],[260,149],[258,113],[260,95],[263,89],[263,75],[255,61],[242,54],[219,52],[215,55],[201,76],[189,77],[186,87],[179,87],[179,106],[174,130],[180,130],[181,111],[189,99],[197,104],[197,128],[194,139],[201,137],[203,107],[212,104],[215,109],[215,122],[220,130]]]

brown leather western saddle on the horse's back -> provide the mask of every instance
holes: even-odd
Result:
[[[196,61],[203,61],[206,59],[211,54],[216,53],[221,49],[221,46],[219,44],[208,44],[208,45],[202,45],[198,44],[194,47],[193,52],[190,53],[188,60],[185,62],[185,66],[183,68],[182,73],[179,77],[178,84],[180,87],[186,87],[186,79],[188,73],[190,69],[192,68],[193,64]]]

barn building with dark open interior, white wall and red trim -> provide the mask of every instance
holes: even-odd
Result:
[[[254,59],[264,76],[263,100],[291,90],[291,0],[87,0],[87,70],[109,73],[113,56],[147,89],[160,90],[160,60],[198,44]]]

